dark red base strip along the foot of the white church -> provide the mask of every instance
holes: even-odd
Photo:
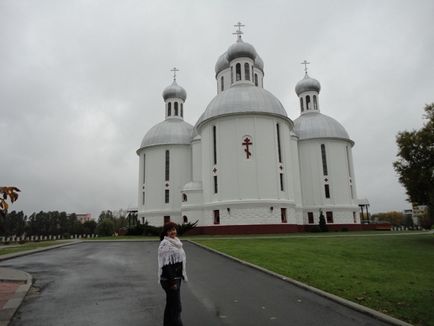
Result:
[[[391,225],[383,224],[327,224],[329,231],[390,231]],[[188,235],[225,235],[225,234],[280,234],[294,232],[315,232],[318,225],[296,224],[249,224],[198,226],[188,231]]]

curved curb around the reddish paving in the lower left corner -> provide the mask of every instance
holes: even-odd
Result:
[[[6,279],[0,280],[0,282],[8,282],[8,283],[23,283],[15,290],[15,294],[5,303],[3,308],[0,310],[0,326],[7,326],[9,322],[15,315],[16,311],[20,307],[21,303],[24,300],[27,292],[29,292],[30,287],[32,286],[32,275],[23,271],[16,271],[10,268],[3,268],[7,270],[10,274],[10,277],[6,277]],[[11,274],[20,274],[20,277],[14,277]]]

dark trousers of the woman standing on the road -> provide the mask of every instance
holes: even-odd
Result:
[[[181,320],[181,279],[161,281],[166,292],[166,308],[164,309],[164,326],[182,326]]]

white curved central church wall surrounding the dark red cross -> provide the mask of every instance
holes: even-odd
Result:
[[[293,191],[280,191],[280,175],[277,154],[275,124],[279,122],[282,134],[289,128],[283,119],[272,116],[240,115],[221,117],[202,127],[202,167],[204,201],[219,202],[231,199],[293,199]],[[213,162],[213,126],[217,131],[217,164]],[[242,145],[250,137],[251,157],[247,158]],[[289,137],[289,136],[288,136]],[[281,146],[286,173],[292,173],[289,157],[291,147],[286,136]],[[204,149],[207,150],[204,150]],[[218,193],[214,194],[216,168]],[[289,182],[288,182],[289,183]],[[291,194],[291,196],[289,195]],[[290,198],[291,197],[291,198]]]

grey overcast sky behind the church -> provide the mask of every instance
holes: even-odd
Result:
[[[432,0],[0,0],[0,185],[21,189],[12,209],[26,214],[137,206],[136,150],[164,119],[170,69],[194,125],[241,21],[292,120],[311,62],[321,112],[355,142],[371,212],[408,208],[395,137],[434,102],[433,13]]]

